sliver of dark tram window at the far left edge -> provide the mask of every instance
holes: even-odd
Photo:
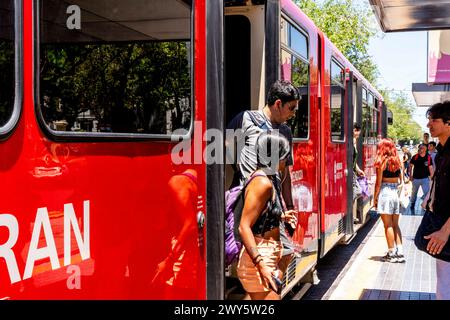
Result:
[[[14,9],[14,0],[0,2],[0,128],[10,123],[16,98]]]

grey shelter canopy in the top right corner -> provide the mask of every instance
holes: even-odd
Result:
[[[450,0],[369,0],[384,32],[450,29]]]

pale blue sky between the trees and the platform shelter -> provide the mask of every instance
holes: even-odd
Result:
[[[379,36],[369,43],[369,54],[380,73],[380,88],[404,92],[416,106],[411,87],[414,82],[427,82],[427,50],[426,31],[383,33],[380,30]],[[426,110],[416,107],[413,116],[423,132],[428,132]]]

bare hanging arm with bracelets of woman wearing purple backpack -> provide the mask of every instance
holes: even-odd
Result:
[[[261,257],[261,253],[256,246],[255,236],[252,226],[258,217],[264,211],[267,201],[272,197],[272,183],[266,177],[255,177],[246,188],[244,208],[242,209],[241,221],[239,224],[239,234],[242,244],[247,250],[248,255],[259,270],[262,280],[269,284],[273,289],[277,289],[272,280],[272,270]]]

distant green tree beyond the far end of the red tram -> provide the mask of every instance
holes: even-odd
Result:
[[[412,120],[414,106],[404,93],[382,92],[387,108],[393,114],[393,124],[388,126],[388,137],[400,144],[409,140],[418,143],[422,138],[420,125]]]

